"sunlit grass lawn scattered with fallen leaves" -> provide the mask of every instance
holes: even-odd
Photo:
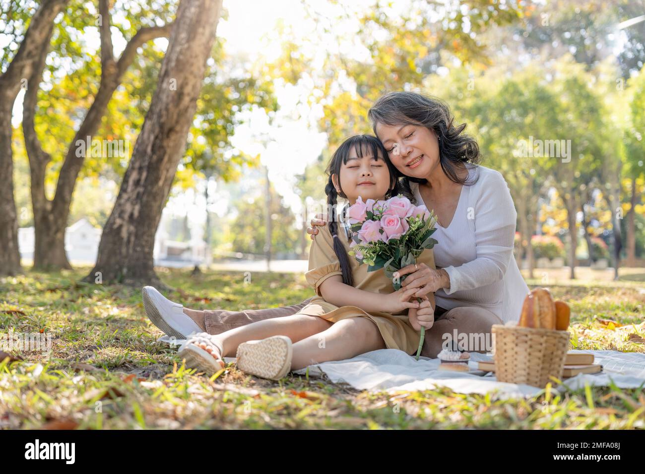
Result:
[[[616,386],[564,395],[547,386],[531,399],[502,400],[448,388],[368,393],[301,375],[272,382],[234,364],[206,377],[156,342],[162,333],[139,290],[78,284],[87,271],[0,280],[0,333],[53,335],[50,355],[0,363],[1,428],[645,428],[645,395]],[[297,274],[159,274],[182,289],[168,297],[195,309],[264,308],[311,295]],[[642,287],[550,290],[571,305],[572,348],[645,352]]]

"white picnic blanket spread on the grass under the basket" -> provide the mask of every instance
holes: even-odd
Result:
[[[168,342],[166,337],[159,340]],[[177,346],[184,341],[174,341]],[[645,386],[645,354],[620,351],[570,351],[592,353],[594,362],[602,365],[602,373],[578,374],[563,380],[562,385],[552,390],[563,393],[566,390],[591,386],[608,386],[613,381],[619,388],[643,388]],[[226,362],[232,362],[234,357],[224,357]],[[534,397],[544,388],[527,384],[510,384],[498,382],[491,372],[477,370],[480,360],[493,360],[488,354],[470,353],[471,371],[456,372],[438,370],[439,359],[414,357],[397,349],[381,349],[364,353],[352,359],[336,360],[314,364],[308,368],[295,370],[293,373],[317,377],[325,373],[332,382],[345,382],[358,390],[368,391],[414,391],[431,390],[444,386],[458,393],[489,393],[498,397]]]

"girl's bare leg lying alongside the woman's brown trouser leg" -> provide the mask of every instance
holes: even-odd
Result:
[[[292,342],[301,341],[332,326],[332,323],[318,316],[295,314],[279,318],[256,321],[223,333],[212,335],[210,339],[219,342],[223,348],[222,357],[235,357],[237,346],[242,342],[265,339],[275,335],[289,337]],[[201,346],[210,352],[209,346]]]

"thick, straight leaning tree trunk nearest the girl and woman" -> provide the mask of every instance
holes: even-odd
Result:
[[[197,107],[222,0],[182,0],[157,90],[86,281],[157,284],[154,238]],[[99,273],[99,275],[97,275]]]

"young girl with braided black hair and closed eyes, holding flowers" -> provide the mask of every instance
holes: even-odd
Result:
[[[394,291],[382,269],[368,272],[367,265],[350,258],[350,233],[342,220],[348,206],[339,221],[335,211],[337,196],[351,205],[359,196],[378,201],[403,192],[386,156],[373,135],[350,137],[333,154],[325,187],[330,222],[312,243],[306,273],[317,297],[293,316],[189,337],[179,348],[187,366],[214,373],[223,368],[223,357],[235,354],[240,370],[278,380],[290,370],[377,349],[416,353],[421,325],[432,326],[434,295],[410,301],[417,288]],[[435,268],[432,250],[424,250],[418,261]]]

